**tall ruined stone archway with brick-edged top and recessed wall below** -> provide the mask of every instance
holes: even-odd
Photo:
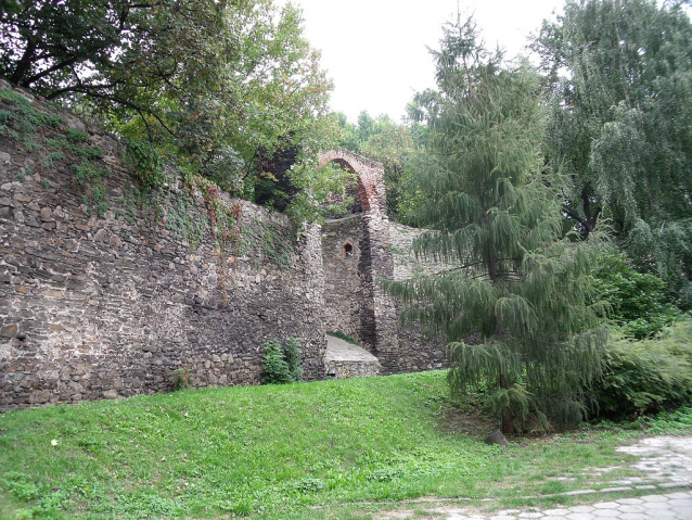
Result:
[[[396,372],[398,321],[380,283],[394,274],[384,166],[347,150],[320,154],[320,162],[356,174],[355,194],[362,210],[325,221],[322,228],[326,328],[353,335],[377,357],[385,372]]]

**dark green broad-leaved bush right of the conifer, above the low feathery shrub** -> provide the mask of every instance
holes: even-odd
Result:
[[[598,297],[610,305],[608,317],[636,339],[661,332],[680,315],[668,302],[666,283],[654,275],[637,272],[623,254],[604,253],[593,270]]]

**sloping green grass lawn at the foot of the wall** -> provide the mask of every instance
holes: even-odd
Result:
[[[482,442],[492,423],[476,408],[452,405],[432,371],[7,413],[0,517],[347,519],[423,496],[530,504],[521,497],[598,485],[592,468],[626,467],[613,448],[640,433],[502,449]]]

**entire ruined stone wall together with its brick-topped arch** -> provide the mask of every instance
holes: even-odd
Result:
[[[0,88],[60,115],[42,138],[86,131],[104,173],[97,205],[94,186],[75,176],[74,151],[48,161],[50,150],[0,135],[0,410],[169,391],[181,368],[197,388],[256,384],[265,342],[291,337],[302,339],[306,379],[362,375],[325,365],[335,331],[373,354],[380,373],[441,366],[439,346],[399,326],[377,283],[410,276],[419,232],[388,221],[382,165],[322,156],[358,180],[353,214],[321,227],[296,230],[221,193],[238,230],[221,243],[198,225],[208,221],[205,193],[171,173],[154,200],[138,202],[116,139]]]

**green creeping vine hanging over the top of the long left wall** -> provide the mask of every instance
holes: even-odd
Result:
[[[62,115],[46,113],[16,91],[0,88],[0,136],[17,141],[33,154],[38,174],[69,163],[76,183],[84,190],[81,203],[87,214],[100,217],[106,214],[106,181],[111,172],[99,163],[103,150],[90,144],[87,131],[68,127]],[[269,223],[242,224],[242,203],[225,200],[219,187],[208,178],[184,175],[183,169],[184,189],[170,189],[162,154],[155,147],[137,139],[125,139],[124,143],[124,164],[131,168],[139,186],[123,187],[123,195],[115,201],[114,216],[131,226],[143,221],[165,226],[193,248],[204,241],[208,230],[219,256],[221,308],[228,305],[227,286],[238,265],[236,256],[251,256],[256,268],[265,261],[280,269],[291,266],[294,246],[291,233]],[[28,167],[23,168],[17,179],[30,175]],[[41,186],[49,189],[51,183],[43,179]],[[127,231],[128,238],[131,233]]]

